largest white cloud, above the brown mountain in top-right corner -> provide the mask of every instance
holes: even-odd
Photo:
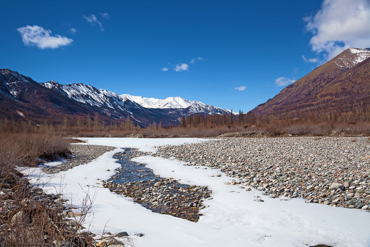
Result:
[[[324,0],[316,14],[303,19],[313,34],[312,50],[324,52],[327,60],[350,47],[369,47],[369,0]]]

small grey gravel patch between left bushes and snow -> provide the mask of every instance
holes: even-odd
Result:
[[[61,171],[67,171],[78,165],[83,165],[91,162],[93,159],[98,158],[106,152],[116,149],[113,146],[101,146],[101,145],[71,145],[70,151],[73,156],[66,159],[60,165],[54,167],[44,167],[43,172],[48,174],[56,174]]]

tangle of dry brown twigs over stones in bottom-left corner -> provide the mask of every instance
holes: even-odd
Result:
[[[34,247],[34,246],[92,246],[92,238],[78,236],[78,226],[81,225],[88,213],[90,213],[92,202],[88,196],[83,200],[81,216],[70,218],[75,220],[77,227],[69,227],[68,221],[64,218],[63,208],[77,208],[71,204],[46,207],[41,204],[46,193],[43,191],[31,192],[31,185],[27,185],[27,179],[15,179],[6,184],[12,192],[10,203],[0,211],[0,246],[9,247]],[[3,185],[4,188],[4,185]],[[53,196],[53,194],[49,195]],[[55,195],[54,195],[55,196]],[[63,199],[63,197],[61,197]],[[45,199],[44,199],[45,200]],[[64,211],[66,212],[66,211]],[[53,241],[58,242],[53,245]],[[71,243],[70,245],[68,243]]]

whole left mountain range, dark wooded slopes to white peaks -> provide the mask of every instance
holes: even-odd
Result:
[[[182,115],[229,114],[225,109],[189,101],[181,97],[166,99],[145,98],[128,94],[118,95],[83,83],[62,85],[53,80],[37,83],[10,69],[0,70],[0,109],[3,116],[57,121],[57,116],[79,114],[126,119],[142,127],[156,122],[177,125]]]

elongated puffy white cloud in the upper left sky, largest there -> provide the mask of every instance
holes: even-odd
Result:
[[[36,45],[40,49],[54,49],[70,45],[73,42],[72,39],[65,36],[51,36],[51,30],[43,29],[43,27],[37,25],[20,27],[17,28],[17,31],[21,35],[24,45]]]

